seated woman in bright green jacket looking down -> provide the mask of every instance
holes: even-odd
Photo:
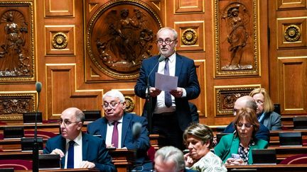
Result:
[[[225,165],[253,164],[252,149],[264,149],[269,144],[255,137],[259,129],[255,111],[251,108],[239,109],[233,123],[235,133],[227,134],[220,139],[215,147],[215,154]]]

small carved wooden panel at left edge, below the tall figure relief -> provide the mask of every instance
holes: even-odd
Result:
[[[22,114],[36,110],[35,93],[0,93],[0,120],[22,120]]]

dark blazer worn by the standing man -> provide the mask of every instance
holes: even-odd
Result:
[[[152,69],[154,69],[154,71],[149,76],[149,86],[155,86],[155,73],[158,71],[158,67],[155,67],[155,65],[158,63],[159,57],[160,55],[157,55],[143,60],[139,72],[139,79],[136,81],[136,86],[134,86],[134,92],[137,96],[146,98],[147,76],[149,76]],[[175,98],[178,124],[181,130],[184,131],[192,122],[188,100],[198,98],[200,95],[200,85],[198,83],[198,76],[196,74],[193,59],[176,54],[175,76],[178,76],[178,87],[185,88],[186,91],[185,98]],[[151,112],[154,111],[156,101],[156,97],[152,98]],[[143,116],[146,117],[146,115],[145,103]]]

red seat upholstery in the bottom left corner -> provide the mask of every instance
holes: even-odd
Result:
[[[14,168],[14,170],[32,170],[32,161],[23,159],[0,160],[0,168]]]

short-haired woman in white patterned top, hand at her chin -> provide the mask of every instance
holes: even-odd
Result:
[[[207,125],[193,124],[183,133],[189,150],[184,155],[185,167],[195,171],[227,171],[222,160],[210,151],[213,133]]]

